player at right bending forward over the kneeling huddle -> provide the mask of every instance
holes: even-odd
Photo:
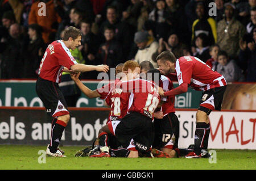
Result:
[[[188,86],[195,90],[203,90],[199,109],[196,113],[195,149],[186,158],[209,157],[207,152],[210,134],[209,113],[212,110],[221,110],[224,92],[226,90],[225,78],[210,69],[197,57],[185,56],[176,59],[170,51],[165,51],[156,57],[159,70],[164,75],[174,75],[176,72],[179,87],[164,92],[163,96],[178,95],[187,92]]]

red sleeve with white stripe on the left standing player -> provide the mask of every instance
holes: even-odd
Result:
[[[77,64],[75,58],[72,56],[70,50],[64,45],[63,41],[60,41],[60,44],[57,44],[54,49],[54,56],[59,61],[60,65],[70,69],[71,65]]]

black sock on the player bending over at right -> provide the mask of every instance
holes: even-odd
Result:
[[[196,123],[195,149],[194,149],[196,155],[200,155],[201,149],[203,149],[206,131],[207,131],[207,123]]]

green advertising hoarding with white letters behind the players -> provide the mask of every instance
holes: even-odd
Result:
[[[97,86],[103,86],[104,81],[82,81],[89,89],[95,90]],[[0,106],[43,107],[42,101],[36,95],[35,80],[0,80]],[[65,82],[75,84],[73,81]],[[59,86],[63,86],[60,83]],[[178,86],[178,83],[174,83]],[[192,99],[193,98],[193,99]],[[176,108],[197,108],[201,98],[201,91],[188,89],[188,92],[177,95]],[[76,107],[105,107],[104,100],[100,98],[89,99],[82,94],[77,100]]]

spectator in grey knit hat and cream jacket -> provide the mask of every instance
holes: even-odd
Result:
[[[134,35],[134,43],[138,47],[138,52],[136,53],[134,60],[139,64],[144,60],[148,60],[154,65],[154,68],[158,68],[158,64],[152,58],[152,55],[159,47],[159,44],[154,40],[154,37],[150,36],[147,31],[138,31]]]

